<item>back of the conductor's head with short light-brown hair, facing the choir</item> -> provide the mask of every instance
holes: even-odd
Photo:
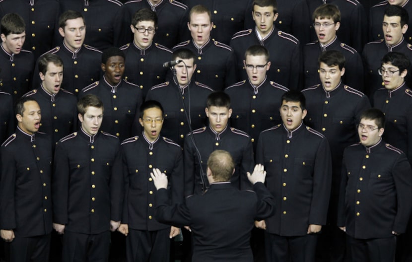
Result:
[[[210,169],[214,181],[230,181],[235,164],[229,152],[214,150],[207,159],[207,167]]]

